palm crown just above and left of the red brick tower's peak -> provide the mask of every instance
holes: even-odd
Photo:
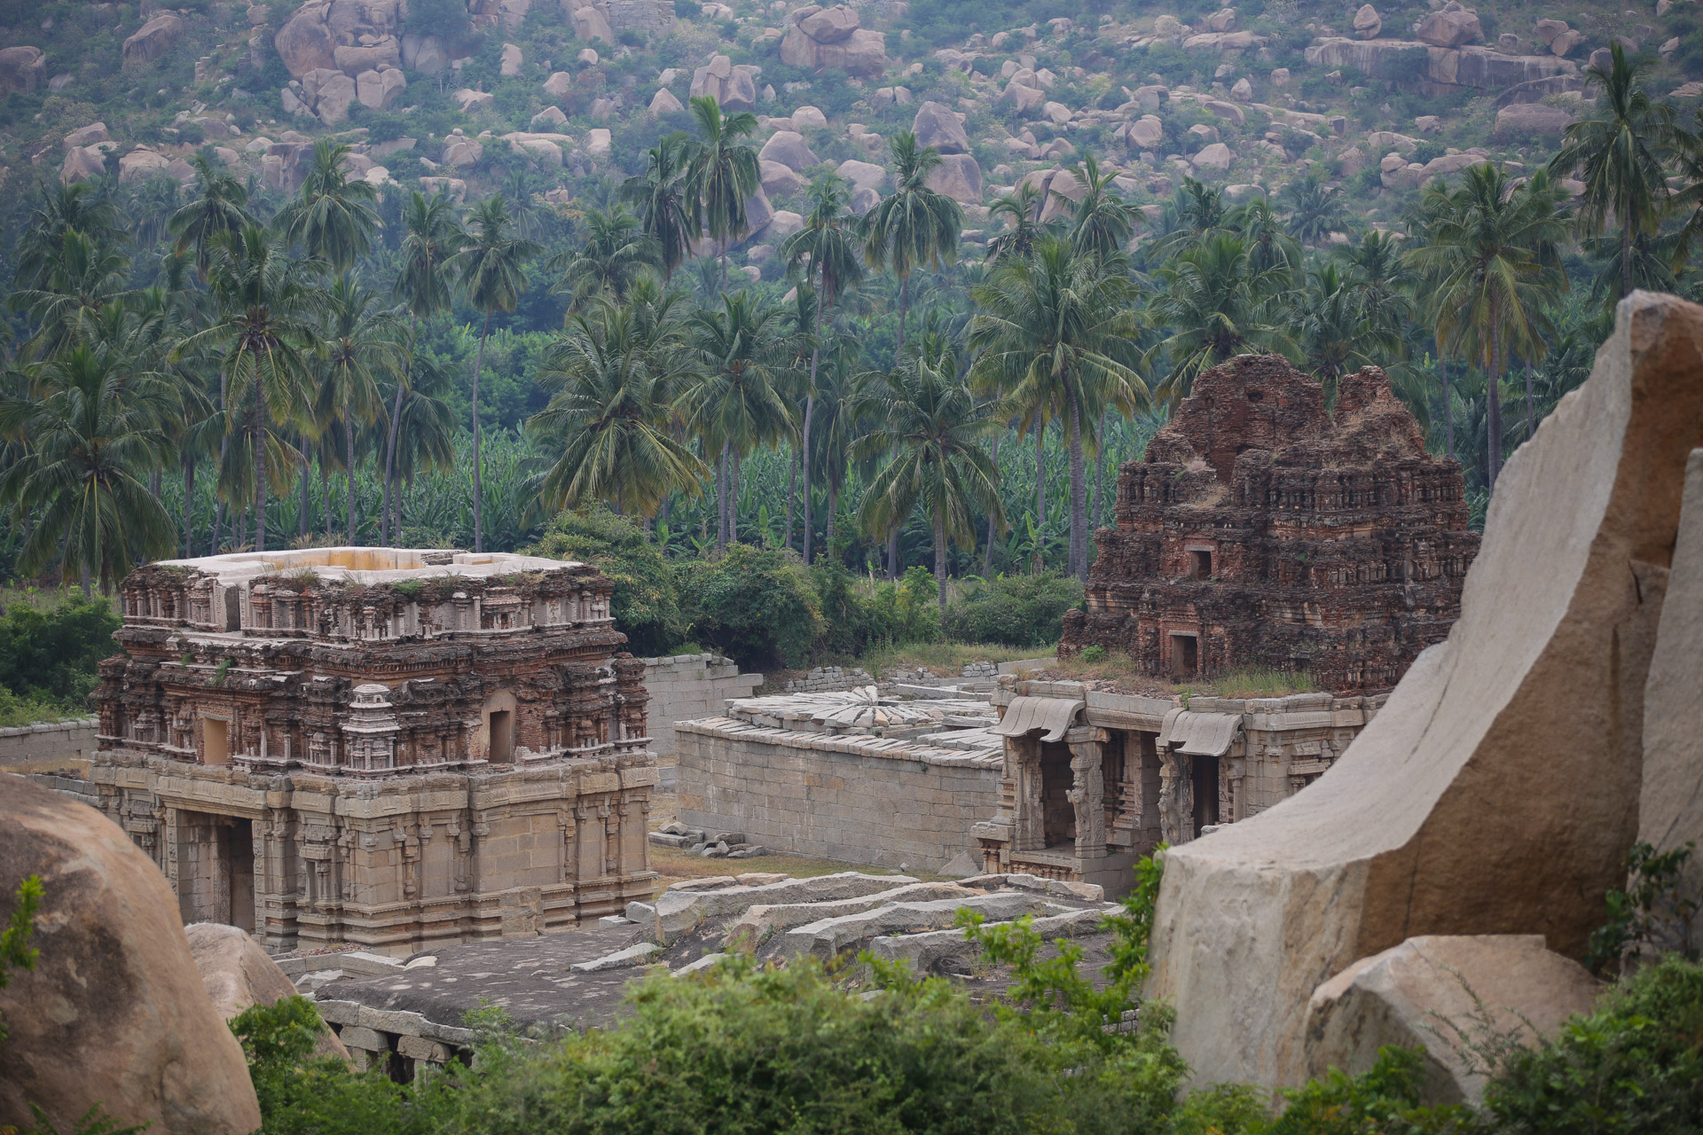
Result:
[[[1255,271],[1238,237],[1207,235],[1158,271],[1158,294],[1150,305],[1155,327],[1173,328],[1146,352],[1150,366],[1170,361],[1158,391],[1172,402],[1189,393],[1201,371],[1245,351],[1294,356],[1281,328],[1286,264]]]

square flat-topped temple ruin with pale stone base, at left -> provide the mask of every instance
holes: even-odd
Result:
[[[186,922],[271,950],[531,934],[654,890],[644,662],[610,580],[320,548],[123,584],[90,786]]]

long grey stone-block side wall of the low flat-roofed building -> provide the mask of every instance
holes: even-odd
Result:
[[[681,721],[674,735],[679,818],[771,851],[937,871],[1000,801],[998,756],[731,718]]]

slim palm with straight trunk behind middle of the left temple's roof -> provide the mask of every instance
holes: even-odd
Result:
[[[347,539],[354,543],[354,441],[361,425],[371,425],[385,410],[380,379],[399,386],[407,361],[407,330],[393,310],[376,306],[371,291],[347,276],[332,281],[325,296],[322,330],[325,361],[320,369],[318,420],[335,419],[342,427],[344,475],[347,478]]]

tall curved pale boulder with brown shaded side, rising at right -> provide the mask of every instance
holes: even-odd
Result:
[[[1313,990],[1408,938],[1584,956],[1638,836],[1700,373],[1703,308],[1623,299],[1591,379],[1507,463],[1449,638],[1318,783],[1167,854],[1146,992],[1201,1081],[1304,1081]]]

